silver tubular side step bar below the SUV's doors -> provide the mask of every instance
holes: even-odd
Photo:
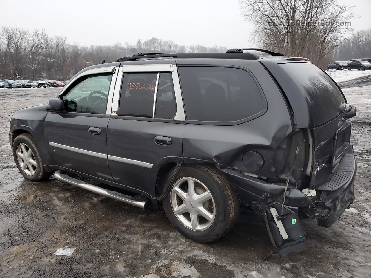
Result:
[[[81,187],[83,189],[89,190],[91,192],[124,202],[128,203],[133,206],[137,206],[139,208],[145,209],[148,206],[148,201],[140,201],[140,200],[135,200],[127,195],[121,194],[116,191],[111,191],[107,190],[104,188],[101,188],[99,186],[92,185],[90,183],[87,183],[85,181],[81,181],[79,179],[72,178],[68,176],[67,174],[64,174],[61,170],[58,170],[54,174],[56,179],[59,179],[62,182],[67,182],[69,184]]]

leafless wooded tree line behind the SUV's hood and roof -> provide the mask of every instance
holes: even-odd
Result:
[[[83,46],[69,44],[67,37],[52,37],[45,30],[1,27],[0,79],[70,79],[86,66],[132,56],[140,52],[225,52],[227,47],[180,45],[172,40],[152,37],[138,39],[136,44],[125,42],[113,45]]]

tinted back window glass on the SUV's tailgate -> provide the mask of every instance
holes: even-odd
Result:
[[[286,63],[280,66],[288,73],[305,97],[314,126],[338,116],[345,99],[335,82],[311,63]]]

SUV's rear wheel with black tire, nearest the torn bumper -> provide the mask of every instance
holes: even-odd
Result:
[[[181,193],[187,195],[184,200],[175,193],[175,189],[181,188],[180,186],[185,186],[186,189],[184,188],[184,190],[188,191],[189,179],[194,180],[194,191],[198,196],[206,193],[206,191],[211,195],[210,199],[200,203],[200,206],[198,206],[196,200],[190,198],[189,192],[183,191]],[[239,199],[219,169],[211,165],[184,165],[180,168],[174,180],[175,182],[170,185],[170,191],[163,201],[163,206],[171,224],[181,234],[194,241],[208,243],[216,241],[232,229],[239,214]],[[198,190],[201,192],[198,192]],[[189,208],[189,210],[184,211],[183,214],[178,214],[178,216],[175,215],[174,209],[181,208],[181,206]],[[206,209],[209,212],[208,215],[213,216],[213,220],[209,221],[201,216],[198,213],[198,208],[203,209],[203,211]],[[193,226],[190,212],[193,212],[192,215],[197,215],[196,218],[193,218],[197,219],[197,221],[194,221],[197,226]]]

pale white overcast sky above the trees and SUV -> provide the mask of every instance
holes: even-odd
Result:
[[[361,16],[355,30],[371,27],[371,0],[339,0]],[[2,9],[1,26],[45,29],[69,43],[114,44],[137,39],[173,40],[178,44],[252,47],[252,26],[243,21],[238,0],[17,0]]]

